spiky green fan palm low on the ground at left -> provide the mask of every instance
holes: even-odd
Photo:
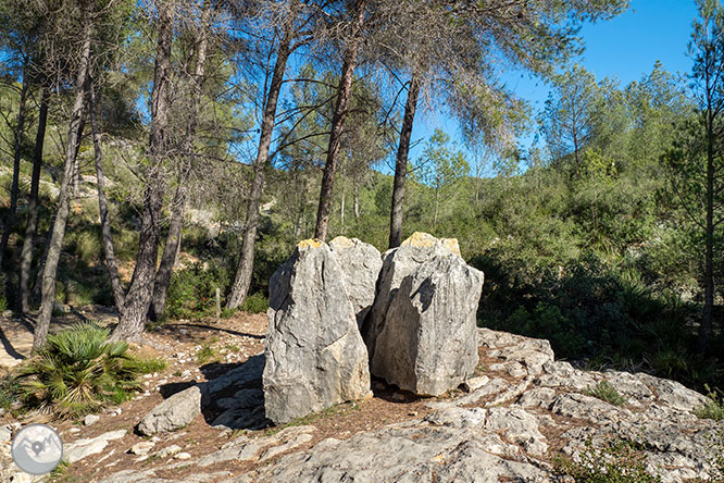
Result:
[[[64,417],[127,399],[139,388],[139,362],[126,343],[108,342],[109,334],[96,322],[49,334],[46,346],[21,368],[26,403]]]

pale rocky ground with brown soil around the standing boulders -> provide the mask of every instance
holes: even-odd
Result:
[[[416,398],[375,381],[367,400],[274,428],[262,409],[265,325],[263,314],[239,314],[162,326],[142,350],[167,359],[167,369],[97,420],[0,417],[0,481],[35,481],[9,460],[12,432],[28,422],[50,423],[65,443],[70,465],[52,481],[102,483],[554,482],[566,481],[557,459],[622,438],[650,472],[684,482],[711,476],[710,447],[724,432],[694,414],[704,398],[678,383],[581,371],[556,361],[546,340],[485,329],[475,377],[460,389]],[[211,359],[199,361],[202,352]],[[626,403],[588,395],[601,381]],[[139,432],[141,420],[152,435]]]

